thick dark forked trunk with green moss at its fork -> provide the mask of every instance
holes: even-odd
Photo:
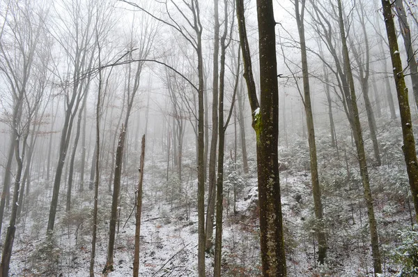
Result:
[[[237,0],[240,44],[244,59],[249,103],[256,131],[260,245],[263,276],[286,276],[283,222],[281,215],[279,160],[279,95],[277,84],[276,39],[272,0],[257,1],[258,48],[260,58],[261,105],[258,105],[251,53],[245,30],[244,3]]]

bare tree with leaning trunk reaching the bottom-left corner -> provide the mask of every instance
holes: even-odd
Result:
[[[19,190],[22,181],[27,139],[32,121],[38,113],[45,88],[47,87],[48,75],[42,77],[42,75],[36,75],[36,73],[45,73],[47,71],[47,60],[50,57],[50,52],[46,51],[46,57],[42,57],[42,54],[40,54],[42,51],[38,52],[41,47],[50,50],[50,45],[47,45],[48,40],[45,39],[46,10],[42,6],[20,6],[20,3],[17,2],[10,2],[9,8],[8,28],[10,29],[8,31],[10,33],[8,33],[8,36],[3,36],[0,51],[3,58],[2,61],[7,65],[3,67],[3,64],[1,64],[1,70],[6,75],[13,96],[13,116],[10,126],[13,126],[12,131],[15,138],[13,147],[17,161],[17,170],[10,223],[4,241],[3,255],[1,256],[0,276],[8,276],[13,242],[15,240]],[[8,41],[8,39],[10,40]],[[13,56],[10,56],[10,53],[6,54],[5,41],[19,45],[17,51],[13,52]],[[45,62],[42,59],[45,59]]]

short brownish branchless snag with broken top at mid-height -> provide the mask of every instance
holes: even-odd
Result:
[[[141,232],[141,211],[142,211],[142,182],[144,181],[144,158],[145,158],[145,135],[141,142],[141,160],[139,162],[139,181],[137,190],[137,216],[135,220],[135,250],[134,250],[134,277],[139,272],[139,234]]]

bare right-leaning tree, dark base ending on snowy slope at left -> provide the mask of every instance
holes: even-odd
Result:
[[[65,54],[70,57],[70,66],[68,70],[71,72],[71,79],[61,79],[61,86],[63,87],[63,96],[65,98],[65,119],[63,129],[61,131],[61,138],[59,143],[59,160],[56,165],[54,188],[52,192],[51,206],[49,209],[49,218],[47,225],[47,234],[54,230],[54,223],[56,218],[56,207],[58,204],[59,189],[61,186],[61,177],[63,174],[63,167],[65,157],[67,156],[68,145],[72,133],[72,124],[79,105],[84,98],[84,86],[86,80],[84,71],[88,70],[93,63],[95,54],[95,43],[93,38],[94,28],[94,6],[93,2],[87,3],[79,0],[72,0],[71,3],[61,2],[62,6],[56,7],[56,28],[54,28],[54,37],[59,43]],[[59,11],[58,11],[59,9]],[[65,22],[70,20],[72,26],[67,26]],[[72,28],[71,28],[72,27]]]

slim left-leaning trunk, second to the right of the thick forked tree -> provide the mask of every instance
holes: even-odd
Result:
[[[350,57],[348,54],[346,30],[344,27],[342,10],[343,8],[341,6],[341,0],[338,0],[339,31],[341,34],[341,43],[342,43],[342,48],[343,48],[342,52],[343,52],[345,72],[348,78],[348,84],[350,88],[351,117],[349,121],[353,129],[353,135],[355,138],[355,146],[357,149],[357,159],[359,160],[360,175],[362,177],[362,184],[364,188],[364,199],[366,200],[367,214],[369,216],[369,227],[370,227],[370,234],[371,234],[371,252],[373,256],[373,268],[374,268],[375,274],[381,274],[382,262],[380,259],[377,223],[376,223],[376,218],[375,218],[374,209],[373,209],[373,197],[371,196],[369,172],[367,170],[366,154],[364,152],[362,127],[360,125],[360,120],[359,120],[359,112],[358,112],[356,95],[355,95],[355,84],[354,84],[354,79],[353,79],[353,73],[352,73],[351,66],[350,66]]]

